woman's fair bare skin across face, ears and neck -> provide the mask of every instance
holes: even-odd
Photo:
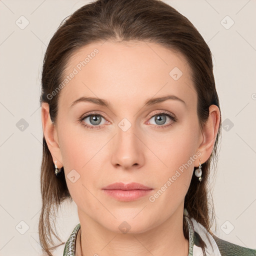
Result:
[[[194,167],[199,159],[205,162],[213,150],[219,109],[209,107],[208,121],[200,129],[197,95],[186,59],[153,42],[108,40],[86,45],[69,59],[66,75],[95,47],[99,52],[59,92],[55,125],[48,104],[41,106],[48,148],[58,168],[64,166],[67,186],[77,205],[83,255],[187,255],[188,240],[182,229],[184,197]],[[174,67],[183,73],[178,80],[169,75]],[[166,94],[181,98],[185,104],[168,99],[144,105],[147,99]],[[69,108],[80,96],[103,98],[110,106],[79,102]],[[166,120],[160,125],[155,118],[162,110],[178,120],[164,115]],[[82,123],[77,121],[91,111],[103,116],[99,129],[82,125],[94,123],[95,127],[89,117]],[[126,131],[118,126],[123,118],[131,124]],[[148,197],[196,152],[200,156],[150,202]],[[80,175],[74,183],[67,178],[72,169]],[[136,200],[118,201],[101,190],[114,182],[138,182],[153,189]],[[127,233],[118,228],[123,221],[130,225]],[[76,255],[80,255],[80,231]]]

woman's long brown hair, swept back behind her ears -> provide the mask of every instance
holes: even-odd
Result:
[[[192,70],[191,79],[197,94],[197,116],[200,128],[208,119],[209,106],[218,106],[219,99],[213,76],[212,55],[198,30],[176,9],[160,0],[96,0],[74,11],[55,31],[47,46],[42,68],[42,102],[49,104],[51,121],[55,124],[58,112],[57,93],[48,97],[63,80],[65,68],[76,50],[93,42],[107,39],[117,41],[150,41],[180,52]],[[189,215],[201,223],[212,234],[211,225],[215,218],[210,204],[209,172],[217,163],[217,143],[220,136],[221,116],[216,139],[210,157],[202,163],[202,180],[192,175],[184,198],[184,208]],[[210,167],[210,165],[214,165]],[[68,191],[64,171],[56,176],[51,153],[43,135],[43,151],[40,173],[42,197],[41,213],[38,222],[40,245],[47,255],[61,244],[54,245],[55,208],[64,200],[72,201]],[[210,207],[211,206],[211,207]],[[51,226],[50,221],[53,220]],[[188,239],[188,227],[183,217],[183,232]]]

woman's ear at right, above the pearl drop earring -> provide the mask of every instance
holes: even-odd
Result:
[[[217,136],[218,128],[219,128],[219,121],[220,121],[220,111],[216,105],[209,106],[209,116],[206,123],[203,125],[201,129],[202,134],[202,141],[197,150],[201,152],[200,157],[198,157],[198,164],[199,166],[199,159],[201,159],[201,164],[207,161],[210,157],[210,154],[214,147],[214,142]]]

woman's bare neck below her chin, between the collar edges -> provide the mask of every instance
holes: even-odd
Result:
[[[187,256],[188,240],[183,234],[182,213],[177,210],[160,225],[144,232],[118,233],[106,229],[78,209],[81,227],[76,237],[75,255]]]

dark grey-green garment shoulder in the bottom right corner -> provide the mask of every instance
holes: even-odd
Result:
[[[233,256],[233,255],[242,255],[242,256],[256,256],[256,249],[246,248],[223,239],[220,239],[216,235],[212,234],[213,239],[215,240],[221,256]]]

